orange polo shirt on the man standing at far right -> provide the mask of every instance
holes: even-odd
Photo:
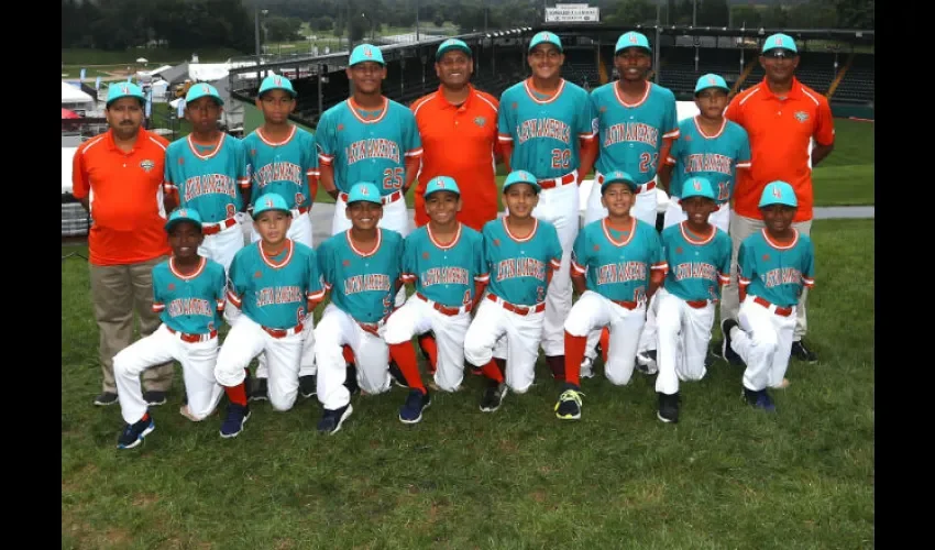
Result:
[[[750,138],[751,168],[738,170],[734,211],[762,219],[760,196],[767,184],[781,179],[795,189],[799,211],[793,221],[811,220],[814,196],[809,144],[834,143],[834,118],[827,98],[792,79],[785,99],[779,99],[766,79],[730,100],[724,116],[737,122]]]

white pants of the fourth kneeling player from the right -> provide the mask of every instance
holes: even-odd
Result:
[[[504,345],[506,359],[506,375],[504,377],[510,389],[525,394],[536,377],[536,361],[539,359],[539,340],[542,338],[542,327],[546,311],[535,312],[535,306],[527,315],[507,311],[503,299],[492,300],[487,294],[477,306],[474,320],[464,334],[464,359],[474,366],[482,367],[494,358],[494,351]],[[546,306],[548,308],[548,306]],[[564,328],[562,328],[564,341]],[[563,355],[564,352],[558,353]]]

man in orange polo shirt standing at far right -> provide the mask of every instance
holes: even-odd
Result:
[[[763,42],[760,65],[766,72],[763,81],[745,90],[730,101],[725,117],[737,122],[750,138],[752,168],[740,170],[734,189],[734,211],[730,215],[730,238],[734,261],[730,285],[724,289],[721,319],[737,319],[737,251],[740,242],[763,228],[759,200],[763,188],[777,179],[795,189],[799,211],[792,227],[804,234],[812,229],[812,169],[809,167],[809,145],[814,139],[812,166],[817,166],[834,148],[834,119],[827,98],[804,86],[795,76],[799,51],[795,41],[785,34],[773,34]],[[796,307],[792,356],[814,363],[817,355],[805,346],[805,299],[803,290]],[[728,355],[733,351],[728,351]],[[725,358],[734,360],[737,358]]]

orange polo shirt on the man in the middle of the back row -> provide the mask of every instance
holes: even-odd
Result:
[[[490,94],[468,86],[471,92],[461,106],[453,106],[439,87],[413,106],[422,138],[422,165],[416,185],[416,226],[429,222],[424,194],[436,176],[450,176],[461,189],[462,208],[458,219],[481,231],[497,217],[495,147],[497,106]]]

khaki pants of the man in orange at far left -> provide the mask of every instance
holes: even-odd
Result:
[[[113,356],[133,340],[133,310],[140,316],[140,334],[147,337],[161,324],[153,312],[153,267],[168,256],[129,265],[90,265],[91,301],[100,330],[103,391],[116,394]],[[143,372],[145,392],[166,392],[172,386],[173,363]]]

